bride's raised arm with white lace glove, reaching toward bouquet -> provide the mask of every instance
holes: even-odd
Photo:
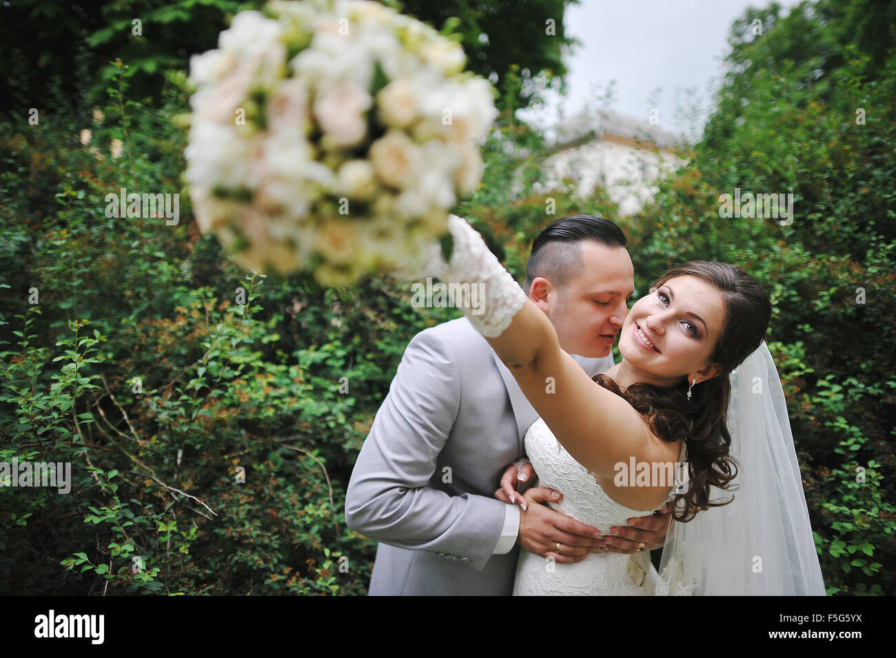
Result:
[[[630,457],[650,460],[655,441],[623,398],[599,386],[560,347],[547,315],[488,251],[478,233],[451,216],[451,262],[435,273],[448,283],[478,286],[483,304],[462,307],[495,349],[530,403],[564,448],[595,475],[612,477]],[[656,455],[661,458],[659,452]]]

